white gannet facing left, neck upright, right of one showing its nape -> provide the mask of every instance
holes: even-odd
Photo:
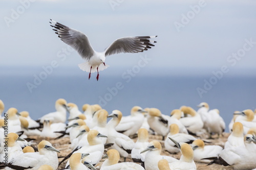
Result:
[[[124,157],[124,161],[126,157],[131,154],[132,149],[134,148],[134,141],[115,130],[115,127],[119,124],[122,113],[119,110],[114,110],[108,117],[113,117],[107,124],[106,128],[108,128],[109,134],[106,143],[114,143],[109,149],[115,149],[119,152],[120,156]]]

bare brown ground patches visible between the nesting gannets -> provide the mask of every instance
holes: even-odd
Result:
[[[229,133],[224,133],[223,136],[220,138],[217,138],[217,136],[216,136],[216,138],[214,137],[214,139],[206,139],[206,140],[212,142],[212,144],[217,144],[217,145],[220,145],[221,147],[223,147],[224,143],[227,140],[228,135],[229,135]],[[36,137],[36,136],[30,136],[30,138],[36,138],[36,141],[35,141],[36,143],[39,143],[41,140],[44,139],[44,138]],[[204,137],[202,137],[202,138],[204,138]],[[158,140],[162,144],[162,147],[163,147],[162,155],[168,155],[168,156],[172,156],[174,158],[179,159],[181,154],[169,154],[168,152],[164,151],[164,141],[162,141],[161,139],[162,139],[162,136],[150,135],[150,141]],[[69,148],[69,146],[70,146],[69,138],[62,138],[62,139],[57,139],[57,140],[54,140],[52,138],[46,138],[46,140],[50,141],[52,143],[53,147],[55,147],[56,149],[58,149],[60,151],[58,156],[66,156],[71,152],[71,149]],[[136,141],[136,140],[137,140],[137,138],[134,138],[134,141]],[[35,147],[37,147],[37,146],[35,146]],[[62,158],[59,158],[59,161],[61,161],[61,160],[62,160]],[[100,166],[103,161],[104,160],[101,160],[95,167],[97,169],[100,169]],[[126,158],[126,161],[132,162],[131,157]],[[67,161],[60,164],[58,169],[62,169],[63,167],[65,167],[66,162]],[[120,162],[123,162],[123,158],[120,158]],[[216,165],[216,164],[207,166],[206,163],[197,163],[196,162],[196,165],[197,165],[197,169],[199,169],[199,170],[201,170],[201,169],[233,169],[232,167],[225,167],[225,166]]]

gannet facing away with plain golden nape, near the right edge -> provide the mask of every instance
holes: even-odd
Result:
[[[240,122],[233,124],[232,133],[228,136],[224,148],[230,147],[243,147],[244,146],[244,135],[243,125]]]

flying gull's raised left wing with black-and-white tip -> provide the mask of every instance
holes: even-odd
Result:
[[[53,31],[58,34],[58,37],[66,44],[73,47],[83,59],[89,60],[93,56],[95,51],[86,35],[52,19],[50,20],[51,27],[54,28]]]

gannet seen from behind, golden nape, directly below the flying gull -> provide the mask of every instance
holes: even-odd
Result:
[[[97,125],[93,128],[97,130],[99,133],[108,136],[109,131],[108,128],[106,128],[106,120],[108,119],[109,113],[105,109],[99,110],[99,113],[97,114]],[[103,144],[106,143],[107,138],[101,138]]]

